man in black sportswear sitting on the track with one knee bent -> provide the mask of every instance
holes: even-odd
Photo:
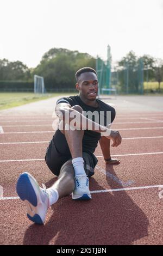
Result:
[[[115,118],[115,109],[96,99],[96,71],[92,68],[82,68],[76,72],[76,80],[79,95],[62,97],[57,101],[55,113],[59,118],[59,126],[45,156],[49,169],[58,176],[58,180],[50,188],[41,188],[32,175],[22,173],[17,181],[18,196],[26,203],[27,216],[34,223],[43,224],[48,207],[64,196],[72,194],[74,200],[91,199],[89,177],[94,174],[98,162],[93,154],[98,141],[105,162],[120,163],[110,156],[110,139],[113,141],[112,147],[121,144],[120,133],[108,129]],[[87,111],[99,114],[104,121],[103,125],[101,119],[95,122],[94,115],[92,120],[87,118],[87,114],[84,114],[88,113]]]

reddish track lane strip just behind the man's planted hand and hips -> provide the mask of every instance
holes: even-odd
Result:
[[[163,138],[127,139],[117,148],[111,148],[112,155],[148,153],[162,151]],[[39,159],[44,158],[48,143],[37,144],[0,144],[0,160]],[[102,155],[101,149],[95,150],[95,155]]]

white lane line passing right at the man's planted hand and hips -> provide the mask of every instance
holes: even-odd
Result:
[[[157,155],[163,154],[163,152],[152,152],[152,153],[136,153],[136,154],[124,154],[124,155],[112,155],[112,156],[141,156],[141,155]],[[99,155],[96,157],[103,157],[103,155]],[[45,159],[13,159],[13,160],[0,160],[0,163],[4,162],[28,162],[28,161],[45,161]]]

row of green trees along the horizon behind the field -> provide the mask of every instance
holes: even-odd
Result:
[[[144,55],[143,74],[144,81],[163,80],[163,61],[152,56]],[[117,71],[126,68],[126,64],[134,67],[139,62],[133,51],[123,57],[117,63]],[[33,82],[34,74],[44,77],[47,89],[50,88],[73,88],[75,72],[83,66],[91,66],[96,69],[96,58],[88,53],[70,51],[66,48],[51,48],[43,54],[41,62],[36,68],[28,68],[19,60],[9,62],[8,59],[0,59],[0,81],[26,81]]]

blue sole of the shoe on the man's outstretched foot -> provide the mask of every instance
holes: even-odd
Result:
[[[34,214],[34,216],[30,216],[30,212],[35,210],[37,206],[37,196],[34,191],[34,188],[30,182],[28,173],[23,173],[20,175],[16,185],[16,191],[21,200],[26,203],[27,206],[27,217],[30,221],[33,221],[36,224],[43,224],[41,217],[38,214]],[[32,179],[34,179],[32,177]]]

